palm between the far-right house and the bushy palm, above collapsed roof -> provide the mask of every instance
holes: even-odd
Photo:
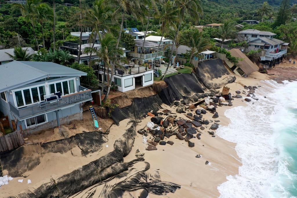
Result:
[[[226,39],[232,39],[236,36],[236,28],[233,22],[231,20],[224,20],[223,24],[219,26],[217,32],[215,32],[215,36],[222,39],[221,48],[223,48]]]

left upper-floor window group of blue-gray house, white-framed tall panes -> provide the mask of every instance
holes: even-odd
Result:
[[[19,91],[14,91],[15,102],[17,107],[26,106],[29,104],[34,104],[44,100],[45,86],[37,86],[26,88]]]

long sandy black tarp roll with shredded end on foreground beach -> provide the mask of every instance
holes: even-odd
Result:
[[[127,171],[128,168],[132,167],[136,162],[144,161],[144,159],[140,157],[130,162],[123,162],[123,157],[132,149],[136,135],[136,122],[130,121],[129,123],[131,123],[131,126],[116,140],[114,149],[110,153],[55,180],[52,179],[51,182],[44,183],[37,189],[27,190],[12,197],[69,197],[89,186],[104,184],[112,180],[116,175]],[[150,180],[151,176],[144,173],[146,170],[140,170],[138,174],[135,175],[137,179],[133,180],[135,177],[130,178],[131,180],[128,183],[121,183],[121,185],[114,185],[113,187],[105,185],[102,192],[110,194],[112,191],[117,190],[133,191],[146,189],[154,194],[164,194],[167,192],[175,192],[176,189],[180,188],[179,185],[174,183],[161,182],[157,177],[155,177],[154,181]],[[122,176],[124,175],[119,175],[119,178]]]

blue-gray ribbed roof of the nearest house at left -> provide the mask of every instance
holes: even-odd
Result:
[[[52,62],[12,61],[0,66],[0,92],[47,77],[86,75],[85,72]]]

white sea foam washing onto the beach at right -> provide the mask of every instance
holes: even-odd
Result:
[[[229,175],[228,181],[218,186],[221,198],[293,197],[280,180],[280,175],[286,175],[288,180],[295,175],[287,170],[287,159],[277,140],[282,129],[296,124],[288,108],[297,106],[297,82],[263,83],[256,90],[259,100],[227,110],[230,124],[217,130],[220,137],[237,143],[242,161],[239,174]]]

